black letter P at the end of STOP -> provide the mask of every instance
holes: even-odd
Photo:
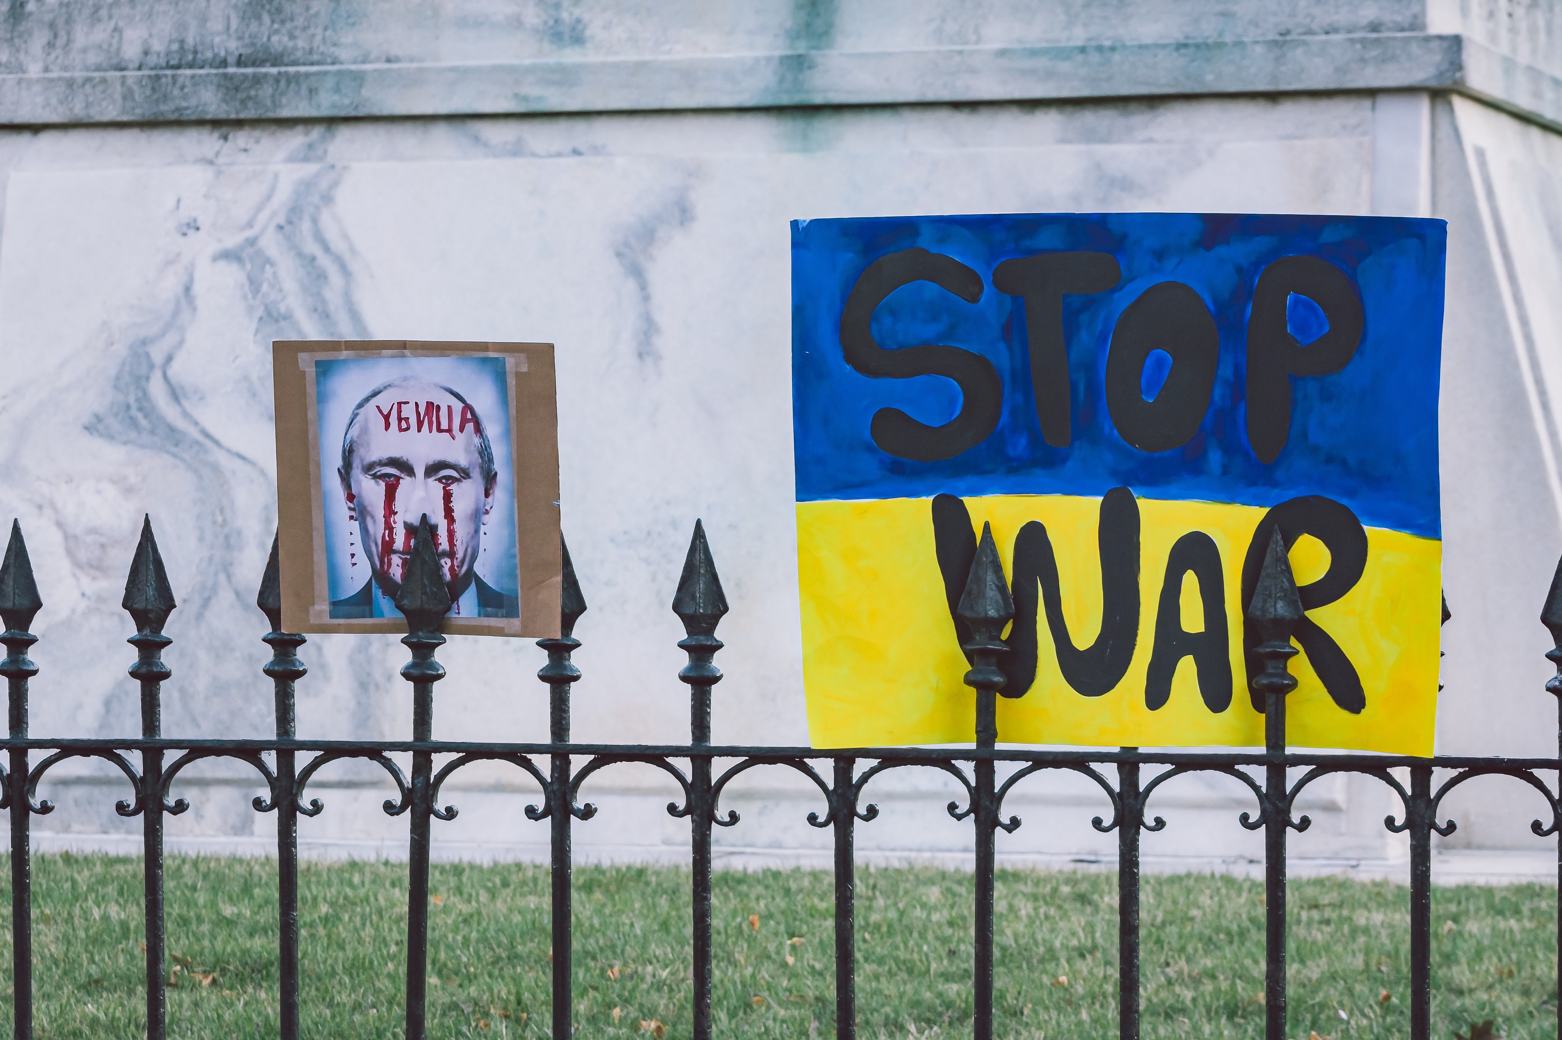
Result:
[[[1317,303],[1329,322],[1306,347],[1286,323],[1293,292]],[[1248,315],[1246,401],[1248,443],[1259,462],[1278,459],[1290,437],[1290,376],[1343,369],[1361,347],[1365,320],[1356,281],[1321,256],[1281,256],[1259,275]]]

